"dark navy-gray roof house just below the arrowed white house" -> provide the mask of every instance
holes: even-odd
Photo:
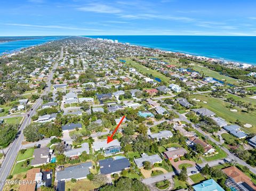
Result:
[[[100,173],[103,175],[111,175],[114,173],[119,173],[124,169],[127,169],[130,167],[130,162],[128,159],[123,157],[122,159],[105,159],[99,161],[100,165]]]

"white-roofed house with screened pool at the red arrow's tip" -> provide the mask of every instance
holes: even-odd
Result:
[[[117,139],[114,139],[110,143],[107,143],[107,140],[93,142],[92,148],[94,153],[102,151],[105,156],[121,153],[120,142]]]

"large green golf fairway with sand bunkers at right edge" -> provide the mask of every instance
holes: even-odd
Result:
[[[256,111],[247,113],[242,111],[242,109],[240,109],[239,107],[235,107],[237,112],[232,112],[230,111],[229,107],[230,103],[227,103],[221,99],[205,95],[191,95],[191,98],[200,99],[201,102],[198,103],[199,105],[213,111],[219,117],[225,119],[229,123],[235,123],[238,119],[242,122],[242,124],[252,124],[253,127],[243,129],[250,133],[256,133]],[[205,101],[207,103],[203,103],[202,101]]]

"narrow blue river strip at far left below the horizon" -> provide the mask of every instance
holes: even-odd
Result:
[[[18,40],[0,43],[0,55],[2,55],[3,53],[12,53],[14,51],[19,51],[21,48],[43,44],[48,41],[58,40],[61,38],[64,38],[64,36],[44,36],[37,39]]]

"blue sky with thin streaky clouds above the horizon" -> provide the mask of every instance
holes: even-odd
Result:
[[[1,0],[0,36],[256,36],[254,0]]]

